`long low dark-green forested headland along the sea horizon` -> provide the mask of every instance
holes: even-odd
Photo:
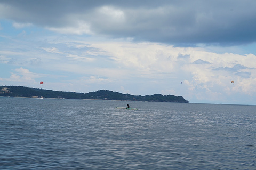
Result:
[[[0,96],[23,97],[23,98],[60,98],[60,99],[98,99],[98,100],[130,100],[148,102],[177,102],[188,103],[182,96],[174,95],[131,95],[113,92],[109,90],[99,90],[90,93],[61,92],[30,88],[24,86],[0,86]]]

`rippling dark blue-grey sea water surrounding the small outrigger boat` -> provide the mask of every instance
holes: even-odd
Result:
[[[0,98],[0,169],[256,169],[255,110]]]

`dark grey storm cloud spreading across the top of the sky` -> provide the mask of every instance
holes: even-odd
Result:
[[[93,34],[175,45],[256,41],[256,1],[0,1],[0,18],[42,27],[86,23]],[[104,7],[107,7],[104,9]],[[3,10],[4,9],[4,10]]]

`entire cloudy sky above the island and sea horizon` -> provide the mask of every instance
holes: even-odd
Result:
[[[255,9],[254,0],[0,0],[0,86],[256,105]]]

